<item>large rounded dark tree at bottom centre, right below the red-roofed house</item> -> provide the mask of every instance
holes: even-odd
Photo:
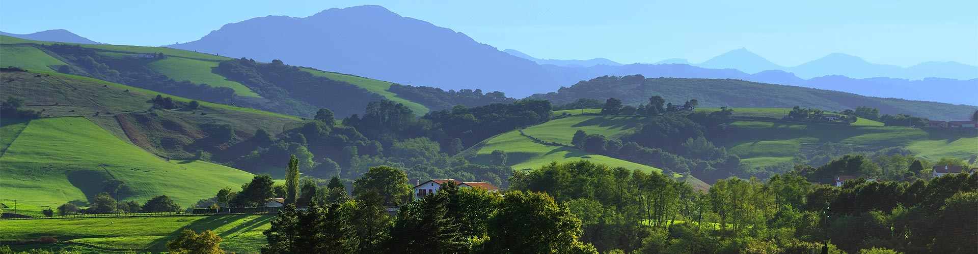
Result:
[[[598,253],[578,241],[581,221],[541,192],[510,191],[490,219],[486,253]]]

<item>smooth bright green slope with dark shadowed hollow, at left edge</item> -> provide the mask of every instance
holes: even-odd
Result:
[[[83,117],[31,120],[0,157],[0,173],[5,179],[0,198],[34,207],[84,204],[109,179],[133,190],[124,200],[143,202],[167,194],[186,207],[251,177],[209,162],[163,160]]]

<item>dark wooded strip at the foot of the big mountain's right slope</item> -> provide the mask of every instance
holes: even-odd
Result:
[[[481,89],[445,91],[441,88],[391,84],[387,89],[398,97],[417,102],[431,110],[451,109],[453,106],[484,106],[490,104],[510,104],[515,99],[506,97],[503,92],[482,94]]]

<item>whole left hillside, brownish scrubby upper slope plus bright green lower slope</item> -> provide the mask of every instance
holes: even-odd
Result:
[[[151,109],[149,101],[159,93],[56,72],[5,70],[0,79],[0,94],[21,98],[27,109],[42,115],[4,118],[0,127],[0,174],[9,179],[0,182],[0,198],[19,199],[28,214],[68,201],[83,206],[110,179],[131,187],[124,200],[167,194],[187,207],[251,177],[189,160],[198,149],[219,152],[259,128],[275,134],[299,122],[293,116],[210,103],[193,110]],[[222,140],[221,130],[235,138]]]

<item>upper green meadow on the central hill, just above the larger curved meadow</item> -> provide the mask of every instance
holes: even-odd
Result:
[[[577,130],[619,138],[634,131],[645,119],[645,116],[568,116],[527,127],[523,133],[569,146]]]

